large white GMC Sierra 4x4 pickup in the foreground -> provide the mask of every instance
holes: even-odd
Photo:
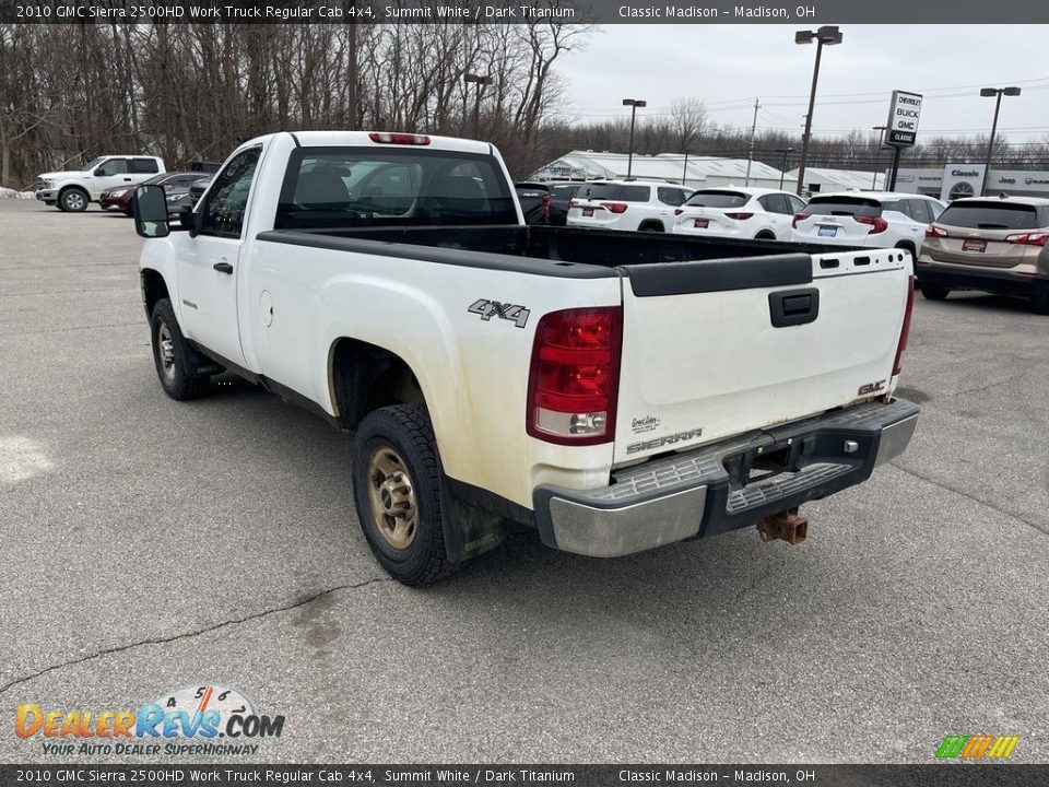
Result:
[[[251,140],[180,224],[138,188],[164,390],[227,369],[353,433],[358,519],[405,584],[506,520],[593,556],[794,543],[799,505],[917,422],[900,249],[526,226],[491,144],[386,132]]]

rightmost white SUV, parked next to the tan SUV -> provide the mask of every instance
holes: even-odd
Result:
[[[917,257],[926,230],[945,208],[940,200],[912,193],[816,195],[794,216],[793,239],[837,246],[895,246]]]

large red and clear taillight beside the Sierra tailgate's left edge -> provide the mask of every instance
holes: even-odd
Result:
[[[622,337],[618,306],[543,316],[528,375],[528,434],[559,445],[612,441]]]

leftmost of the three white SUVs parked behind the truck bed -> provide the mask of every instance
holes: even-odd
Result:
[[[568,203],[568,225],[628,232],[669,232],[674,209],[694,189],[651,180],[585,183]]]

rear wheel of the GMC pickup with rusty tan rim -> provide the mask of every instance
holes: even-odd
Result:
[[[391,468],[394,471],[387,472]],[[394,497],[389,490],[398,485]],[[399,583],[429,585],[459,567],[448,560],[445,547],[440,463],[423,406],[397,404],[364,418],[353,444],[353,498],[375,559]],[[381,525],[377,509],[382,512]],[[400,512],[402,516],[386,512]],[[404,525],[400,539],[397,524]]]

